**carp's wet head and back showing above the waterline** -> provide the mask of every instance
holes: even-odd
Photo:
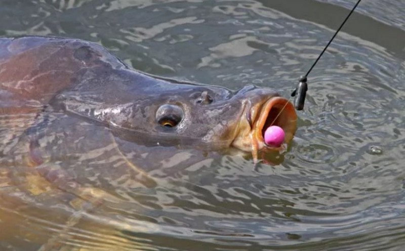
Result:
[[[0,114],[63,113],[141,145],[255,154],[271,148],[263,140],[270,124],[286,142],[297,128],[294,106],[272,89],[230,91],[145,74],[90,41],[1,38],[0,69]]]

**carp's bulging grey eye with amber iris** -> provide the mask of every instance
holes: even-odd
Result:
[[[156,121],[162,127],[172,128],[183,119],[183,109],[178,105],[161,105],[156,111]]]

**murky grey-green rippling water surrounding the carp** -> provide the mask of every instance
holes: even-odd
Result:
[[[0,35],[92,40],[148,73],[287,97],[354,2],[0,0]],[[360,4],[309,75],[296,138],[277,165],[207,158],[157,172],[149,188],[93,169],[78,178],[82,198],[35,197],[57,189],[25,177],[23,186],[41,184],[31,195],[0,175],[0,250],[401,250],[404,24],[403,1]],[[19,125],[0,121],[3,145]],[[102,205],[86,199],[104,189]]]

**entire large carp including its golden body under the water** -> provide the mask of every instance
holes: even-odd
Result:
[[[29,204],[35,210],[27,215],[47,212],[55,226],[97,216],[99,225],[131,229],[108,212],[134,207],[122,194],[155,187],[173,166],[212,152],[257,154],[271,124],[288,142],[296,119],[292,104],[271,89],[233,92],[151,76],[78,39],[0,38],[0,220],[23,224],[19,213]],[[64,231],[32,241],[59,250]],[[34,239],[31,232],[23,238]]]

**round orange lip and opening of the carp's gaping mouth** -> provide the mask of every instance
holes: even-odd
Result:
[[[277,125],[284,130],[286,134],[285,143],[289,143],[293,139],[297,130],[297,113],[289,100],[278,96],[271,97],[263,104],[258,104],[258,107],[252,107],[252,109],[258,110],[251,131],[251,138],[256,141],[257,150],[278,148],[269,146],[264,142],[264,131],[270,125]],[[253,114],[254,112],[250,111],[250,113]]]

